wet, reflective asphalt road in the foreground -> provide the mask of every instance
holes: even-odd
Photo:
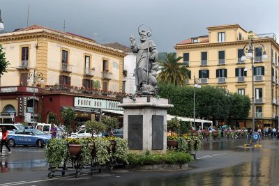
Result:
[[[44,149],[12,148],[0,155],[0,186],[12,185],[279,185],[279,140],[264,139],[263,148],[243,148],[246,139],[203,141],[197,160],[186,171],[114,170],[93,173],[84,169],[80,178],[73,171],[47,178]]]

